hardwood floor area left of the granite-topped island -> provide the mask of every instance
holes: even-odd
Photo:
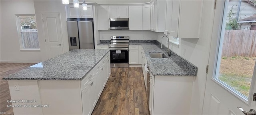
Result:
[[[34,64],[36,63],[0,63],[0,112],[8,112],[13,115],[12,108],[7,107],[7,100],[11,99],[8,81],[2,80],[2,78]]]

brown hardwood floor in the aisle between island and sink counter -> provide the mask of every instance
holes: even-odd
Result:
[[[92,115],[150,115],[142,68],[111,68]]]

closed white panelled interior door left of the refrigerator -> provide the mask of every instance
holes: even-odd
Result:
[[[47,58],[63,54],[60,13],[42,14]]]

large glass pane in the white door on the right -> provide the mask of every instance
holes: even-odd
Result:
[[[238,6],[239,0],[229,0],[225,3],[213,78],[240,99],[248,101],[255,69],[256,31],[239,28],[237,20],[250,16],[245,17],[242,12],[248,6]],[[236,12],[238,10],[240,14]]]

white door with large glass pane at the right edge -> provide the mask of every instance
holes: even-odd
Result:
[[[239,2],[229,5],[230,1],[232,0],[216,2],[202,115],[243,115],[244,113],[237,107],[242,107],[244,111],[256,109],[256,101],[253,101],[252,96],[256,93],[255,59],[253,56],[241,53],[246,48],[241,45],[252,44],[248,40],[255,38],[249,37],[234,44],[243,36],[233,36],[233,34],[242,35],[244,31],[250,30],[242,30],[239,26],[236,30],[232,30],[234,28],[232,24],[237,24],[232,20],[236,18],[238,9],[231,7],[238,6]],[[240,9],[242,10],[243,7],[241,6]],[[230,13],[231,9],[234,14]],[[255,47],[246,52],[252,50],[255,50]]]

